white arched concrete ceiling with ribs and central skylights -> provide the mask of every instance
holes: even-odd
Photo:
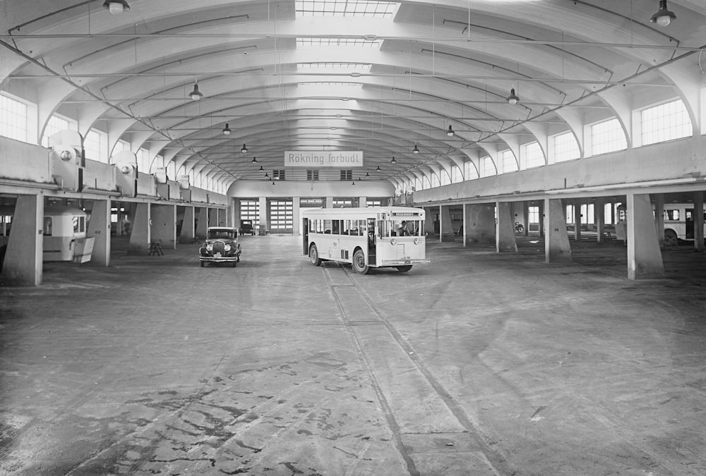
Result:
[[[361,150],[397,184],[567,130],[583,149],[613,116],[630,143],[630,110],[671,97],[702,128],[701,0],[670,0],[664,27],[657,0],[103,3],[0,1],[2,89],[39,104],[40,137],[58,112],[225,186],[285,150]]]

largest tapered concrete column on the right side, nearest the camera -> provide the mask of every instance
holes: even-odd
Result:
[[[628,279],[664,278],[650,195],[628,193]]]

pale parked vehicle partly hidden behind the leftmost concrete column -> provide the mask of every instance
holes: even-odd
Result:
[[[87,216],[78,208],[44,209],[44,261],[73,260],[78,243],[85,246]]]

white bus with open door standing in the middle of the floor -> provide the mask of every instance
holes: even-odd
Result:
[[[360,274],[381,267],[409,271],[412,264],[430,262],[425,215],[410,207],[309,209],[301,213],[304,255],[314,266],[351,263]]]

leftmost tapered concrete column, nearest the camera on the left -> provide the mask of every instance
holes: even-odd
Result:
[[[0,281],[39,286],[44,262],[44,195],[18,195]]]

